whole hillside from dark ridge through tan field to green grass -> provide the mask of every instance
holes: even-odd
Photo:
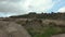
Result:
[[[53,37],[53,35],[65,34],[65,13],[29,13],[1,17],[0,21],[15,22],[17,26],[23,26],[31,37]]]

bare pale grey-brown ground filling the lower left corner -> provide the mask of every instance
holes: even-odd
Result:
[[[30,35],[20,24],[0,21],[0,37],[30,37]]]

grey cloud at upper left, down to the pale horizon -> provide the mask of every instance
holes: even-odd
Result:
[[[24,10],[20,2],[23,0],[0,0],[0,17],[23,14]]]

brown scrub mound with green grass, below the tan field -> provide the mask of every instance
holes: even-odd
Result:
[[[22,23],[20,22],[20,24]],[[31,37],[51,37],[52,35],[65,33],[65,27],[61,27],[53,22],[46,25],[42,24],[41,20],[26,21],[23,26],[27,29]]]

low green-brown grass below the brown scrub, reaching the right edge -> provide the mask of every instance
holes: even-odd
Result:
[[[22,22],[18,22],[18,24],[21,23]],[[65,27],[55,26],[55,23],[50,23],[48,26],[41,26],[41,28],[34,28],[29,25],[27,25],[27,27],[29,26],[29,28],[27,28],[26,25],[27,24],[25,24],[24,26],[27,29],[27,32],[31,35],[31,37],[51,37],[52,35],[65,33]]]

